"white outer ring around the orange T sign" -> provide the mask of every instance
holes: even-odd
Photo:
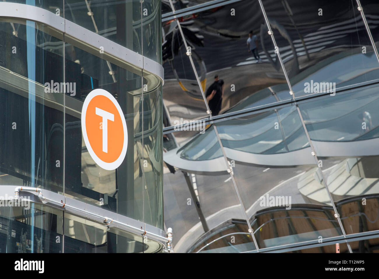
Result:
[[[91,102],[91,100],[96,96],[104,96],[108,98],[109,100],[111,100],[111,102],[117,108],[117,111],[121,117],[122,126],[124,127],[124,144],[122,146],[121,154],[117,158],[116,161],[111,162],[111,163],[104,162],[99,157],[97,157],[96,153],[92,149],[91,144],[89,144],[89,140],[88,140],[88,135],[87,135],[87,130],[86,130],[86,113],[87,113],[89,102]],[[89,92],[89,94],[87,95],[83,103],[83,108],[81,109],[81,132],[83,134],[83,139],[86,144],[89,155],[91,155],[92,159],[95,161],[97,165],[99,165],[103,169],[106,169],[107,171],[113,171],[114,169],[117,169],[122,164],[126,155],[126,150],[128,148],[128,130],[126,128],[125,116],[121,110],[119,103],[108,91],[97,88]]]

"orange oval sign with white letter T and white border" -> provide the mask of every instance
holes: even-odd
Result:
[[[128,133],[117,100],[103,89],[94,89],[81,110],[81,129],[89,154],[103,169],[113,170],[124,161]]]

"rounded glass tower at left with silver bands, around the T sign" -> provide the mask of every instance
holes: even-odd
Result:
[[[28,10],[25,19],[12,17],[16,3]],[[0,252],[162,252],[162,80],[150,72],[161,67],[160,1],[145,3],[146,21],[139,1],[40,3],[13,2],[9,17],[0,17],[0,196],[37,187],[136,229],[107,228],[83,212],[32,199],[30,208],[0,208]],[[50,19],[58,15],[67,33],[54,28]],[[27,19],[33,16],[40,22]],[[83,103],[94,89],[109,92],[125,117],[127,151],[114,170],[95,163],[82,135]]]

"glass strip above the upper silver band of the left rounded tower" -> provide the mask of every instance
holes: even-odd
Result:
[[[5,0],[45,9],[158,63],[161,1]]]

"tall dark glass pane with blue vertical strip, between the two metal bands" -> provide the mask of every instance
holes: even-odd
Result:
[[[0,40],[0,185],[63,192],[63,34],[20,20]]]

